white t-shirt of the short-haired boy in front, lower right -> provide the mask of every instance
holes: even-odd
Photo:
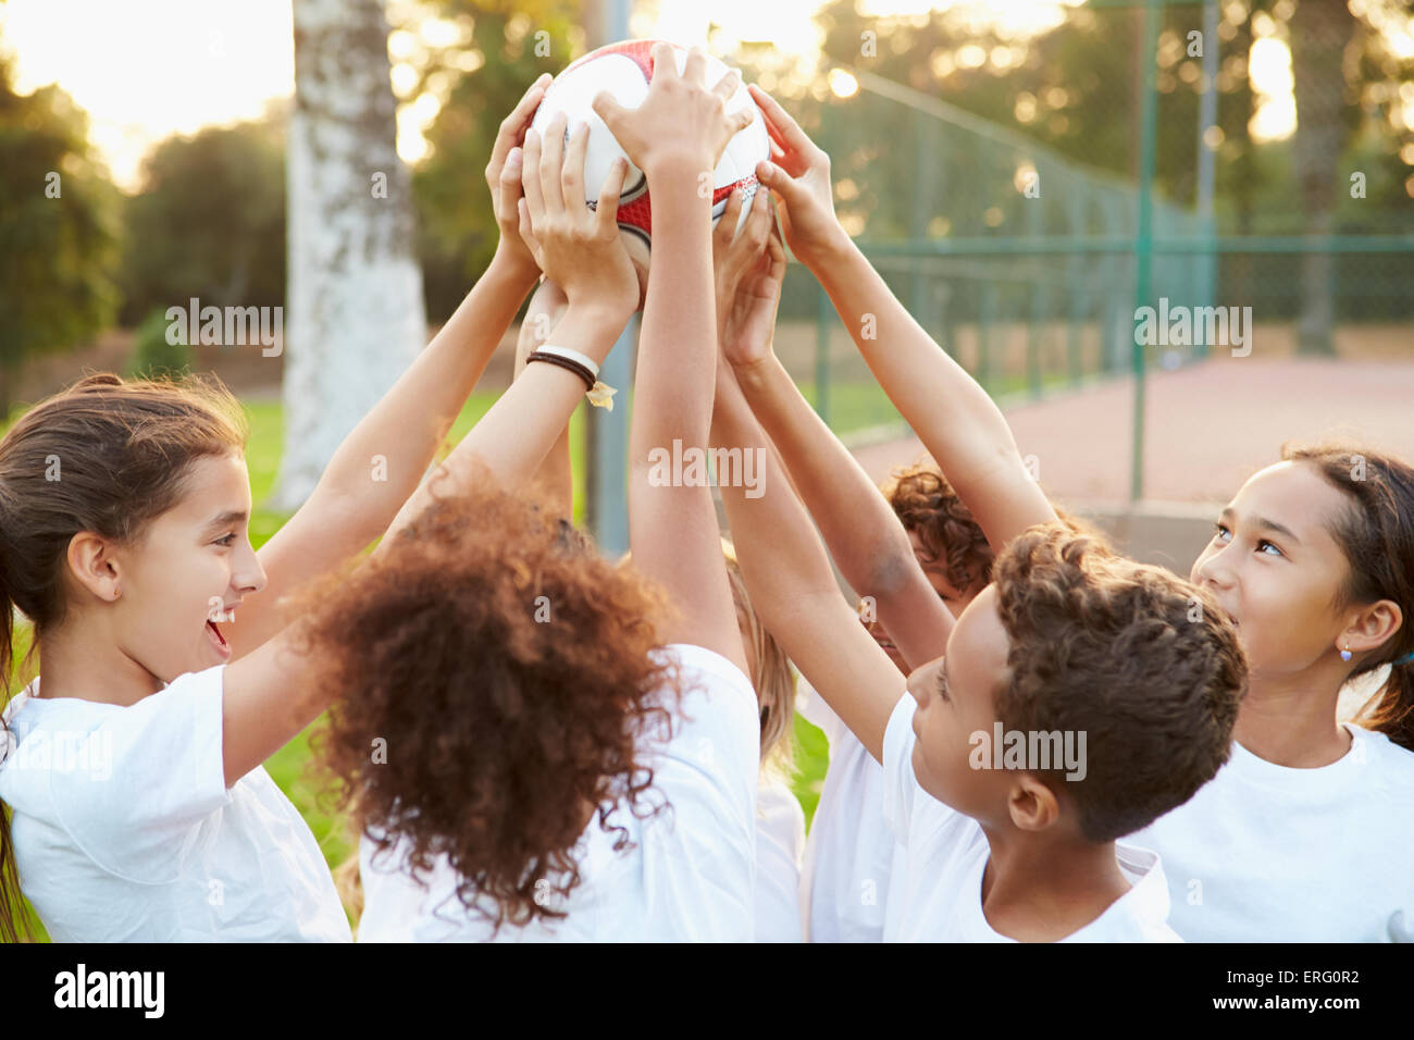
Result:
[[[902,900],[889,942],[1011,942],[981,910],[981,879],[991,856],[987,835],[971,816],[943,805],[913,775],[913,710],[905,693],[884,733],[884,816],[905,846],[906,870],[895,880]],[[1168,927],[1168,884],[1159,857],[1116,842],[1114,855],[1130,890],[1062,942],[1181,942]]]

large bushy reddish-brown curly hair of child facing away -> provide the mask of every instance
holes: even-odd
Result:
[[[445,855],[495,930],[566,915],[587,821],[625,849],[611,812],[662,808],[638,741],[679,689],[650,657],[666,603],[539,504],[486,480],[304,599],[341,808],[378,852],[410,842],[414,872]]]

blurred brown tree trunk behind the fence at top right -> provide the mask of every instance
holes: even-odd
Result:
[[[1329,235],[1336,164],[1345,150],[1345,48],[1355,16],[1340,0],[1301,0],[1291,16],[1291,72],[1295,78],[1297,184],[1307,235]],[[1301,318],[1297,349],[1333,357],[1335,267],[1329,252],[1301,256]]]

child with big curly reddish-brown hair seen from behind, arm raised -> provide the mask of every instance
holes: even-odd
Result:
[[[734,74],[703,85],[700,51],[682,75],[666,44],[653,58],[631,119],[595,102],[653,191],[633,570],[588,552],[549,509],[469,494],[468,471],[464,502],[434,507],[396,557],[317,610],[327,623],[311,652],[348,691],[325,754],[365,832],[361,941],[752,938],[761,726],[715,509],[706,484],[650,480],[655,449],[707,443],[715,331],[696,171],[715,166],[744,113],[724,109]],[[590,276],[614,273],[622,324],[633,269],[612,207],[585,209],[584,127],[567,150],[563,129],[551,122],[543,149],[527,134],[527,236],[568,297],[564,323],[592,303]],[[563,228],[595,229],[583,266],[556,260]],[[530,359],[512,392],[559,371]]]

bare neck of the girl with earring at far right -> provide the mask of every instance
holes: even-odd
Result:
[[[1339,676],[1326,675],[1325,669],[1253,676],[1233,739],[1275,765],[1329,765],[1350,750],[1350,733],[1336,722],[1339,696]]]

